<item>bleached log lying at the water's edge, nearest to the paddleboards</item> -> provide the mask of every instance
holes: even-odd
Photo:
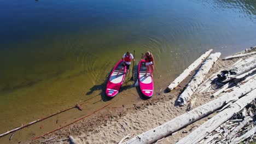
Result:
[[[211,52],[212,49],[206,51],[201,57],[197,58],[194,63],[190,64],[189,67],[185,69],[181,75],[179,75],[172,83],[170,83],[170,85],[166,88],[167,91],[171,91],[173,88],[177,87],[179,83],[181,83],[186,77],[190,75],[191,71],[199,67],[202,61],[207,58]]]

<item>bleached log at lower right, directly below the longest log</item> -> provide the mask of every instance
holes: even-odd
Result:
[[[246,94],[245,97],[238,99],[234,104],[230,105],[228,108],[219,112],[216,116],[212,117],[207,122],[200,125],[199,128],[192,131],[192,133],[178,141],[176,144],[191,144],[200,142],[209,133],[211,133],[214,129],[218,128],[219,125],[228,121],[228,119],[231,118],[234,115],[234,113],[241,111],[243,107],[247,106],[255,98],[256,89]]]

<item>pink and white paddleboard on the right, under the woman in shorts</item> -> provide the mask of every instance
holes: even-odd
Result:
[[[138,65],[138,83],[139,88],[141,88],[141,92],[146,97],[152,97],[154,92],[154,83],[153,83],[153,77],[150,76],[150,73],[148,72],[147,76],[144,76],[146,74],[146,62],[145,60],[139,61]]]

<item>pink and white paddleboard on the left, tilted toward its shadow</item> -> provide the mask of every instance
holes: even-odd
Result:
[[[108,97],[114,97],[118,93],[124,81],[126,67],[124,67],[124,69],[120,71],[120,73],[118,74],[118,71],[121,68],[123,68],[122,59],[115,65],[114,69],[111,71],[109,75],[107,87],[106,87],[106,94]]]

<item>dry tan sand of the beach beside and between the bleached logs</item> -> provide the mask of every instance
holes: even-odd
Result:
[[[247,57],[243,57],[243,59],[245,58]],[[219,69],[230,67],[238,59],[240,58],[228,61],[222,61],[219,59],[207,74],[206,78],[216,73]],[[119,108],[112,114],[104,114],[104,112],[101,112],[101,114],[98,114],[86,121],[77,122],[38,140],[27,141],[27,143],[69,143],[69,135],[72,135],[75,140],[80,143],[118,143],[128,134],[132,134],[133,136],[141,134],[144,131],[158,127],[159,125],[186,112],[188,104],[182,107],[176,107],[174,104],[179,93],[181,93],[190,78],[191,76],[170,93],[158,93],[153,95],[152,99],[145,100],[140,104],[134,104],[130,107]],[[197,107],[211,101],[213,98],[210,98],[210,95],[210,93],[193,95],[193,97],[197,96],[197,100],[193,107]],[[158,143],[177,142],[213,115],[214,114],[188,125],[188,127],[177,131],[174,135],[165,137]],[[188,131],[188,133],[183,133],[183,131]],[[50,137],[54,136],[56,136],[56,139],[46,141]],[[127,141],[127,139],[125,141]]]

